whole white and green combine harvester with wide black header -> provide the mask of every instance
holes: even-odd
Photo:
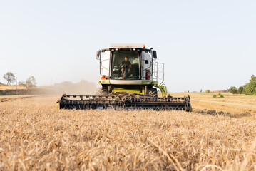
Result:
[[[112,44],[96,53],[100,61],[101,88],[96,95],[62,95],[60,109],[185,110],[192,111],[190,96],[167,95],[164,71],[156,51],[137,44]],[[159,88],[162,98],[158,98]]]

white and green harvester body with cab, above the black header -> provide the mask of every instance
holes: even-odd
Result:
[[[157,98],[156,88],[160,88],[166,97],[163,79],[158,85],[158,68],[163,68],[164,63],[155,61],[157,54],[153,48],[145,48],[143,44],[112,44],[111,48],[98,50],[96,59],[100,61],[101,74],[101,88],[96,95],[137,93]]]

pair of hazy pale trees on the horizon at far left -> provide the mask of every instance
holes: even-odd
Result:
[[[11,83],[16,82],[16,76],[11,72],[5,73],[3,78],[7,81],[7,85],[11,85]],[[18,85],[24,86],[29,90],[30,88],[36,87],[36,78],[34,78],[34,76],[29,76],[26,81],[19,81]]]

